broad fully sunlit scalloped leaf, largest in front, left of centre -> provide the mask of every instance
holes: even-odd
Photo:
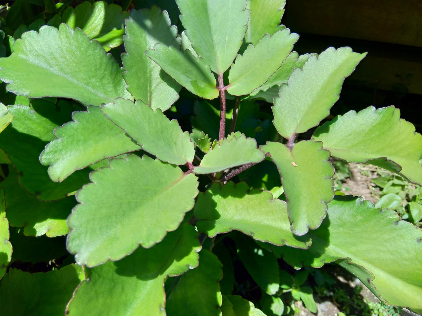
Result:
[[[146,155],[114,158],[109,165],[91,173],[92,183],[76,193],[80,204],[68,218],[68,249],[80,265],[122,259],[139,244],[153,246],[179,226],[198,194],[194,174]]]

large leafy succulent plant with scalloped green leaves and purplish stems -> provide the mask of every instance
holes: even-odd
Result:
[[[329,161],[421,185],[421,135],[391,106],[302,136],[365,53],[299,56],[299,35],[280,25],[285,0],[176,4],[183,32],[157,6],[128,15],[96,2],[56,7],[48,25],[6,37],[0,79],[16,101],[0,108],[3,313],[281,315],[277,258],[297,269],[336,262],[382,302],[421,313],[422,231],[335,195]],[[105,52],[120,43],[123,67]],[[186,113],[183,129],[170,120]],[[68,265],[4,274],[25,236],[44,234],[67,235]],[[264,303],[233,295],[233,256]],[[292,294],[314,311],[305,279]]]

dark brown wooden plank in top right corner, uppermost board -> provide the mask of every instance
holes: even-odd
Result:
[[[292,32],[422,47],[422,0],[289,0]]]

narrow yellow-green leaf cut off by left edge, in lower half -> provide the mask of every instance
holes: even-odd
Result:
[[[12,256],[12,245],[9,241],[9,222],[5,214],[6,203],[4,190],[0,189],[0,280],[3,278],[6,267]]]

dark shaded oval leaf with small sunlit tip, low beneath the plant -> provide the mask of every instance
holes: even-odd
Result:
[[[252,279],[268,295],[276,294],[280,288],[277,258],[250,238],[240,234],[235,236],[238,256]]]

